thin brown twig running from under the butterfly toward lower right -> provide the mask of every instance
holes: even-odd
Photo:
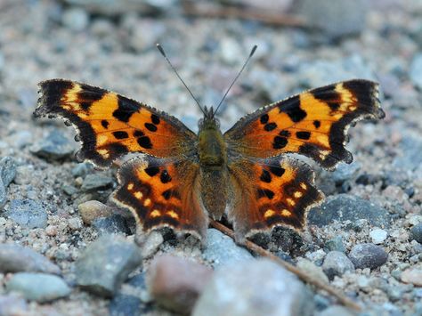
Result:
[[[215,222],[213,219],[210,219],[210,224],[216,230],[222,231],[224,234],[231,237],[231,239],[234,239],[234,231],[231,231],[230,228],[224,226],[222,223]],[[344,304],[345,306],[350,307],[355,311],[358,311],[358,312],[361,311],[361,306],[359,304],[353,302],[350,298],[339,293],[339,291],[336,288],[330,287],[328,284],[321,282],[321,280],[316,280],[315,278],[312,278],[311,275],[296,268],[296,266],[281,260],[278,256],[272,255],[271,252],[269,252],[268,250],[265,250],[263,247],[256,245],[256,243],[249,241],[247,239],[243,246],[247,247],[250,251],[253,251],[258,255],[266,256],[270,258],[271,260],[273,260],[274,262],[279,263],[283,268],[296,274],[296,276],[300,280],[303,280],[306,283],[312,284],[316,288],[320,288],[328,292],[331,296],[336,297],[339,303]]]

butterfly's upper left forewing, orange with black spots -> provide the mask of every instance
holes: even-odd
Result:
[[[39,84],[37,117],[59,116],[77,128],[77,157],[97,166],[128,152],[172,157],[190,152],[193,134],[174,117],[118,93],[68,80]]]

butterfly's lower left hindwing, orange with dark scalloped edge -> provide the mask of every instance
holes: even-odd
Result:
[[[205,238],[207,215],[200,207],[199,166],[161,158],[134,158],[118,171],[113,199],[129,208],[144,231],[163,226]]]

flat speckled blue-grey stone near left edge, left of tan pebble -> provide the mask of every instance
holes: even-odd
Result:
[[[41,203],[32,199],[12,199],[4,215],[28,229],[45,228],[47,212]]]

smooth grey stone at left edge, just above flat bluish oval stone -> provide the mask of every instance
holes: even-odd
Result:
[[[2,273],[32,271],[61,274],[60,268],[44,255],[13,243],[0,245],[0,271]]]

